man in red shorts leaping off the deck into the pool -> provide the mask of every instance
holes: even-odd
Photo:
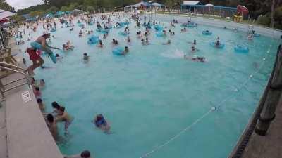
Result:
[[[33,75],[37,67],[40,67],[44,64],[44,60],[36,53],[37,50],[39,51],[45,51],[49,55],[51,54],[51,49],[59,49],[56,47],[48,46],[46,39],[50,38],[49,32],[44,32],[41,37],[38,37],[38,39],[34,42],[32,42],[30,45],[30,48],[27,48],[27,53],[30,55],[30,60],[32,60],[32,65],[27,68],[27,71],[29,74]]]

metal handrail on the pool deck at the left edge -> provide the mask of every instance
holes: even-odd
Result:
[[[1,70],[8,70],[10,72],[14,72],[14,73],[18,73],[18,74],[23,75],[23,77],[21,77],[19,79],[15,79],[13,81],[9,81],[6,84],[2,84],[2,81],[0,79],[0,93],[1,93],[1,96],[3,98],[5,98],[4,93],[6,93],[7,91],[11,91],[12,89],[18,88],[18,87],[23,86],[25,84],[27,84],[28,88],[31,88],[30,77],[22,67],[7,64],[6,62],[0,62],[0,69]],[[16,85],[12,85],[12,84],[15,84],[16,82],[22,81],[22,80],[25,80],[25,81],[22,82],[22,83],[16,84]],[[7,88],[7,86],[10,86],[10,87]]]

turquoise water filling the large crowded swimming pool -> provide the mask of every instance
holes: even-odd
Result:
[[[88,28],[95,30],[96,26]],[[50,45],[61,47],[71,40],[75,46],[67,53],[56,51],[63,56],[56,65],[44,57],[51,68],[35,71],[37,79],[46,81],[42,98],[47,111],[57,101],[75,118],[68,136],[63,136],[59,124],[64,141],[58,145],[63,154],[87,149],[99,158],[139,158],[147,153],[152,158],[228,157],[257,106],[278,41],[263,36],[248,41],[243,32],[203,25],[185,33],[180,32],[180,25],[169,29],[176,36],[156,37],[152,29],[151,44],[142,46],[135,35],[139,29],[131,21],[131,44],[118,34],[123,29],[111,29],[103,40],[104,48],[87,44],[86,34],[78,37],[79,27],[73,32],[59,28],[51,34],[56,39]],[[202,35],[204,29],[211,30],[212,36]],[[32,36],[41,32],[39,27]],[[209,46],[217,36],[225,48]],[[130,53],[113,55],[113,38],[119,46],[129,46]],[[171,45],[161,44],[168,39]],[[200,50],[195,55],[204,56],[207,62],[180,56],[191,55],[188,41],[194,39]],[[235,53],[235,44],[247,44],[250,52]],[[27,44],[20,47],[25,49]],[[90,55],[87,63],[82,61],[85,52]],[[212,107],[219,108],[211,111]],[[90,122],[100,113],[111,124],[112,134],[95,129]]]

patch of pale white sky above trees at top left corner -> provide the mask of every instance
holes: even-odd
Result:
[[[6,0],[6,2],[17,10],[43,3],[42,0]]]

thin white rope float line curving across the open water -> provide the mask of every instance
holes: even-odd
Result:
[[[269,53],[270,53],[270,48],[272,47],[272,42],[273,42],[273,37],[271,37],[271,43],[269,45],[268,50],[266,51],[266,56],[264,58],[262,58],[263,62],[262,65],[259,67],[259,69],[257,71],[255,71],[254,73],[250,74],[250,76],[247,78],[247,80],[240,86],[240,88],[235,88],[235,92],[240,91],[246,84],[248,81],[250,81],[250,79],[252,79],[252,77],[254,77],[255,74],[257,74],[259,72],[259,70],[262,69],[262,67],[265,64],[265,60],[266,58],[268,58]],[[232,98],[236,93],[232,93],[230,96],[228,96],[226,99],[222,100],[217,107],[214,106],[212,107],[208,112],[206,112],[205,114],[202,115],[202,117],[200,117],[199,119],[197,119],[196,121],[194,121],[192,124],[190,124],[189,126],[187,126],[185,129],[183,129],[182,131],[180,131],[179,133],[177,133],[175,136],[171,137],[170,139],[168,139],[165,143],[163,143],[162,145],[159,145],[157,147],[155,147],[153,150],[147,152],[146,154],[144,154],[143,156],[141,156],[140,158],[145,158],[145,157],[149,157],[151,154],[153,154],[154,152],[157,152],[158,150],[160,150],[162,147],[168,145],[168,143],[171,143],[173,140],[175,140],[176,138],[178,138],[179,136],[181,136],[185,131],[188,131],[188,129],[191,129],[192,126],[194,126],[195,124],[199,123],[202,119],[204,119],[204,117],[207,117],[207,115],[209,115],[211,112],[215,111],[216,109],[219,109],[219,107],[221,107],[221,105],[226,102],[227,100],[229,100],[230,98]]]

